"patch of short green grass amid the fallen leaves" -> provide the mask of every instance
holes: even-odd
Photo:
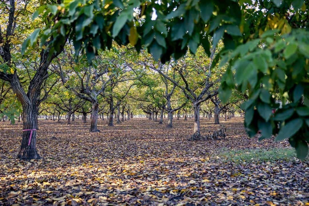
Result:
[[[278,160],[293,161],[296,158],[294,149],[273,148],[273,149],[242,149],[224,150],[221,157],[227,161],[240,162],[275,162]]]

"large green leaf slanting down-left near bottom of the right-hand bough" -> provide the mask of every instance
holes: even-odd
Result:
[[[291,120],[286,123],[279,131],[276,141],[281,141],[292,137],[303,126],[302,119]]]

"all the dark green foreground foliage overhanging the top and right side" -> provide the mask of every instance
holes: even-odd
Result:
[[[151,19],[153,9],[157,14],[155,20]],[[289,138],[298,158],[304,159],[309,141],[307,13],[308,3],[301,0],[167,0],[160,4],[139,0],[74,0],[41,6],[34,18],[53,15],[57,23],[33,32],[24,42],[22,52],[29,44],[34,46],[38,37],[42,47],[53,37],[48,47],[57,52],[69,35],[76,57],[86,50],[89,62],[97,50],[111,48],[112,40],[122,45],[130,43],[137,51],[145,45],[157,61],[165,62],[184,56],[188,46],[195,53],[200,44],[210,55],[208,36],[212,37],[213,47],[223,37],[225,55],[221,65],[229,62],[229,69],[222,81],[221,99],[227,101],[235,82],[243,93],[248,89],[243,108],[249,135],[260,128],[267,138],[280,130],[277,139]],[[280,30],[272,31],[276,28]],[[302,29],[294,30],[297,28]],[[213,66],[218,61],[219,55]],[[271,109],[278,108],[272,96],[276,92],[289,104],[272,116]]]

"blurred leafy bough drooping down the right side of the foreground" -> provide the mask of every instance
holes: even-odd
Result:
[[[297,157],[305,159],[309,142],[309,32],[299,29],[281,36],[277,31],[265,32],[261,39],[239,46],[224,59],[233,67],[224,76],[220,95],[228,98],[235,83],[248,94],[242,107],[249,136],[259,129],[262,139],[278,134],[277,141],[289,139]],[[276,103],[278,94],[281,108]],[[274,114],[273,108],[278,108]]]

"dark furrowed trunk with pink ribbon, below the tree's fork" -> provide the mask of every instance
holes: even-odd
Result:
[[[37,110],[34,105],[23,106],[23,138],[18,157],[23,160],[40,159],[36,151]]]

